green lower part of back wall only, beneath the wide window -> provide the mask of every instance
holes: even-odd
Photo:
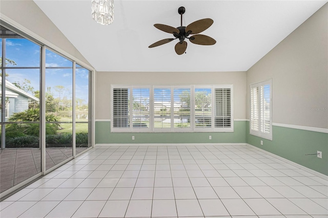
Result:
[[[96,121],[95,143],[246,143],[246,125],[246,121],[234,121],[233,133],[111,133],[110,121]],[[209,136],[212,136],[211,140]]]

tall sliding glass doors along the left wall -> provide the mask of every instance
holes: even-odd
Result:
[[[0,197],[64,164],[93,141],[92,71],[4,26]]]

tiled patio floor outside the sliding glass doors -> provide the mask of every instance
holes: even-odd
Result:
[[[80,152],[85,148],[76,148]],[[72,156],[72,148],[47,148],[47,169]],[[41,171],[41,150],[38,148],[0,149],[0,192]]]

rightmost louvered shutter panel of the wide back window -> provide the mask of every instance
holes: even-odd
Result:
[[[215,127],[231,127],[231,89],[220,88],[215,90]]]

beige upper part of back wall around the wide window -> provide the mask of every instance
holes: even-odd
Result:
[[[233,84],[234,119],[246,117],[246,72],[96,72],[96,119],[111,119],[112,84]]]

